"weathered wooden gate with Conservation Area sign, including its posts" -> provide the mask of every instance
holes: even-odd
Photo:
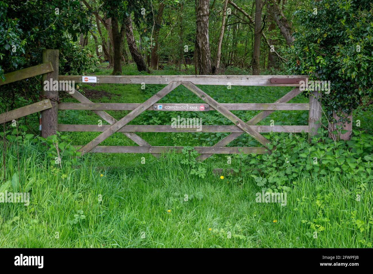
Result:
[[[321,118],[321,105],[318,101],[320,94],[314,92],[309,97],[309,103],[287,103],[300,94],[300,81],[305,81],[308,76],[278,75],[278,76],[236,76],[236,75],[175,75],[175,76],[67,76],[58,75],[58,50],[44,50],[43,63],[51,62],[54,70],[43,74],[43,81],[74,81],[108,83],[108,84],[160,84],[166,85],[155,95],[141,104],[129,103],[92,103],[87,97],[72,87],[72,91],[43,90],[43,97],[50,99],[51,107],[42,111],[42,136],[53,135],[58,131],[90,131],[101,132],[96,138],[86,145],[78,146],[82,155],[88,152],[115,152],[115,153],[151,153],[158,156],[160,153],[175,149],[181,151],[183,147],[157,147],[148,144],[136,132],[228,132],[228,136],[217,142],[212,147],[195,147],[200,154],[198,160],[204,160],[212,154],[263,154],[268,147],[269,140],[260,133],[263,132],[308,132],[315,134]],[[185,86],[205,103],[203,104],[157,104],[164,96],[169,94],[179,85]],[[273,103],[218,103],[210,95],[196,85],[242,85],[242,86],[294,86],[295,88]],[[59,103],[59,92],[67,92],[80,103]],[[91,110],[110,125],[62,125],[58,124],[58,110]],[[120,120],[114,119],[105,110],[131,110]],[[245,122],[231,110],[262,110],[256,116]],[[307,126],[266,126],[256,125],[276,110],[307,110],[309,111]],[[135,117],[144,111],[218,111],[232,121],[231,126],[213,125],[196,128],[174,128],[171,125],[128,125]],[[1,114],[3,115],[3,114]],[[100,143],[113,135],[121,132],[138,146],[100,146]],[[263,147],[226,147],[234,139],[247,133],[256,139]]]

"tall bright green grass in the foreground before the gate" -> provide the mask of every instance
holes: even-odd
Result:
[[[178,154],[114,168],[94,168],[101,163],[87,157],[80,167],[62,163],[62,169],[32,145],[21,151],[9,147],[3,156],[5,180],[18,173],[22,186],[28,177],[36,182],[28,206],[0,204],[1,247],[372,246],[372,184],[343,175],[300,177],[291,182],[281,207],[257,203],[260,188],[248,174],[237,185],[207,165],[207,176],[200,179],[189,174]],[[79,210],[86,218],[67,224]]]

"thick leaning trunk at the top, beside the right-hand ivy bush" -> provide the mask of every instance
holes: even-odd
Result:
[[[286,19],[285,15],[283,15],[282,10],[277,4],[277,0],[267,0],[268,3],[268,12],[275,20],[277,26],[280,29],[280,33],[286,40],[286,44],[290,47],[294,42],[294,37],[292,37],[293,31],[291,26]]]

